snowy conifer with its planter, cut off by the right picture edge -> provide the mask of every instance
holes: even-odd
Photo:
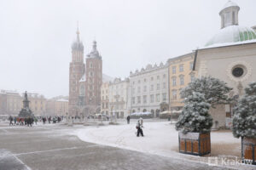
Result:
[[[245,88],[234,109],[233,135],[241,137],[241,159],[245,163],[256,164],[256,82]]]

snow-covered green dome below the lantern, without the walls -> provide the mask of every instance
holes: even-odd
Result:
[[[227,26],[218,31],[218,33],[207,42],[206,46],[216,44],[244,42],[247,40],[256,40],[256,33],[252,28],[246,26]]]

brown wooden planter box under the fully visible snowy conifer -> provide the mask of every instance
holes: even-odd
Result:
[[[179,152],[194,156],[211,153],[210,133],[178,133]]]

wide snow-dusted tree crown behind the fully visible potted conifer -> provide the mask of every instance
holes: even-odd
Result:
[[[204,94],[206,102],[214,107],[214,105],[230,103],[231,99],[228,94],[231,90],[232,88],[229,88],[226,82],[220,81],[218,78],[201,77],[190,82],[180,94],[183,98],[193,94],[193,92]]]

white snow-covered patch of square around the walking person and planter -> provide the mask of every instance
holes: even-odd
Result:
[[[104,144],[127,150],[137,150],[149,154],[188,159],[208,163],[209,157],[222,157],[230,160],[241,157],[241,139],[233,137],[230,131],[215,131],[211,133],[212,153],[207,156],[189,156],[178,153],[178,133],[170,122],[144,122],[144,137],[136,136],[135,122],[127,125],[89,127],[78,129],[75,134],[86,142]],[[236,167],[238,169],[253,169],[253,166],[224,163],[218,165]]]

